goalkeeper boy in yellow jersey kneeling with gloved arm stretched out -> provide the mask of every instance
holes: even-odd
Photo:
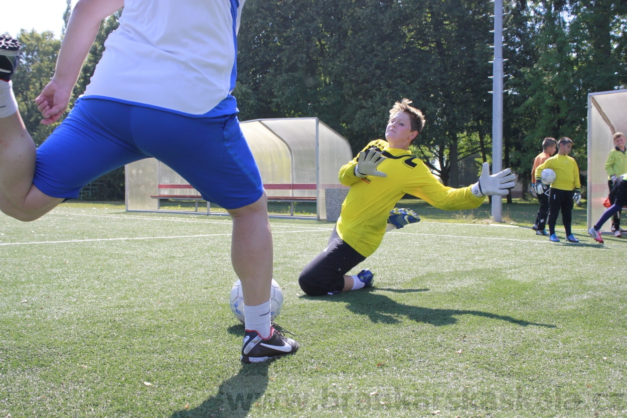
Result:
[[[390,110],[387,141],[370,142],[340,168],[340,183],[350,190],[327,248],[298,277],[305,293],[320,296],[372,286],[372,272],[346,273],[375,252],[387,230],[418,222],[418,216],[409,210],[392,210],[406,193],[437,208],[461,210],[477,208],[484,196],[507,195],[508,188],[514,187],[515,175],[510,169],[491,176],[488,163],[483,164],[481,177],[472,186],[454,189],[442,185],[407,151],[424,126],[422,112],[409,104],[410,100],[403,99]]]

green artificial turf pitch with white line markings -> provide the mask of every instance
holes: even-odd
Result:
[[[423,222],[352,272],[375,286],[330,297],[297,277],[333,225],[271,220],[277,322],[301,348],[260,365],[239,361],[229,218],[1,215],[0,417],[627,415],[627,241],[595,244],[583,209],[581,244],[554,244],[529,228],[535,205],[489,223],[487,205],[403,203]]]

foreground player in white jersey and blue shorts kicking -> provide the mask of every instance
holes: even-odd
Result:
[[[85,95],[38,149],[11,90],[19,44],[0,38],[0,210],[35,220],[111,169],[157,158],[233,218],[231,260],[246,316],[242,361],[295,353],[298,343],[270,324],[266,195],[230,95],[237,1],[78,1],[55,75],[35,100],[42,123],[65,112],[100,21],[122,7]]]

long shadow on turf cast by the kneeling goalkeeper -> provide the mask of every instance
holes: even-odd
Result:
[[[423,322],[435,326],[451,325],[457,322],[455,316],[458,315],[475,315],[483,316],[483,318],[498,319],[507,321],[520,326],[535,325],[545,326],[547,328],[556,328],[555,325],[542,324],[524,321],[523,319],[512,318],[507,315],[498,315],[483,311],[471,311],[467,309],[433,309],[421,308],[419,306],[411,306],[398,303],[393,299],[377,293],[377,291],[393,291],[393,292],[424,292],[428,289],[383,289],[374,287],[359,292],[345,292],[327,297],[330,302],[338,302],[346,304],[346,309],[352,313],[365,315],[374,323],[397,324],[401,321],[396,318],[399,315],[406,316],[416,322]],[[303,299],[319,299],[319,297],[300,296]],[[323,296],[325,297],[325,296]]]

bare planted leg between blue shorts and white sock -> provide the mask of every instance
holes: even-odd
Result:
[[[244,304],[266,303],[270,300],[273,262],[266,195],[251,205],[228,212],[233,218],[231,262],[241,281]]]

